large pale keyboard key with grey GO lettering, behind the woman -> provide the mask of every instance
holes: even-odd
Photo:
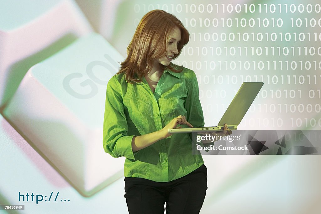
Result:
[[[31,67],[4,115],[83,194],[123,175],[102,147],[107,82],[124,58],[90,34]]]

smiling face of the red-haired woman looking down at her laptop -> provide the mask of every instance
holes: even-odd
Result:
[[[175,54],[178,54],[177,45],[181,40],[181,31],[178,27],[175,28],[175,30],[169,34],[169,43],[167,44],[167,53],[163,58],[156,59],[155,64],[162,64],[162,65],[169,65],[170,61],[172,60],[172,57],[174,57]]]

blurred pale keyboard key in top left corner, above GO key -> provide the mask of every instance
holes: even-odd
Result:
[[[0,106],[32,65],[92,32],[72,0],[1,1],[0,14]]]

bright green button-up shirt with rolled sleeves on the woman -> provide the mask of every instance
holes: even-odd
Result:
[[[204,126],[196,75],[187,68],[181,73],[166,70],[154,93],[146,79],[143,77],[142,80],[130,84],[123,74],[117,74],[109,80],[103,147],[115,158],[126,157],[126,177],[172,181],[204,163],[201,154],[192,154],[190,134],[175,133],[136,152],[132,150],[132,139],[161,130],[179,115],[185,115],[194,127]]]

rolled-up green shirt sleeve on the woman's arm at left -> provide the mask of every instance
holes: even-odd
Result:
[[[105,152],[114,158],[126,157],[135,159],[132,150],[134,135],[127,136],[128,125],[124,112],[120,83],[113,76],[107,85],[106,106],[103,125],[103,147]]]

